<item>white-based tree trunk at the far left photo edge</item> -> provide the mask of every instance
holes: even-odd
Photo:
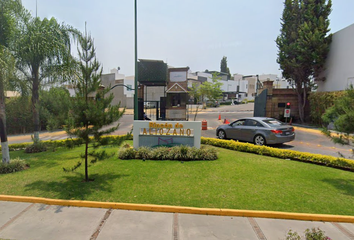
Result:
[[[1,73],[0,73],[0,138],[1,138],[2,162],[10,163],[9,144],[7,142],[7,133],[6,133],[4,82]]]

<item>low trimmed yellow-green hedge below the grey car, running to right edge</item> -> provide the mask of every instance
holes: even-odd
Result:
[[[354,161],[344,158],[336,158],[321,154],[298,152],[294,150],[277,149],[268,146],[256,146],[251,143],[241,143],[234,140],[221,140],[215,138],[201,138],[201,143],[215,147],[222,147],[240,152],[256,153],[270,157],[277,157],[301,162],[310,162],[333,168],[354,171]]]

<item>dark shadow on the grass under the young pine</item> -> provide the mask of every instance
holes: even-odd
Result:
[[[84,182],[85,176],[81,173],[73,173],[56,181],[35,181],[25,186],[26,191],[40,193],[42,196],[69,200],[86,200],[99,192],[112,192],[112,182],[129,175],[124,174],[92,174],[89,177],[95,179]]]

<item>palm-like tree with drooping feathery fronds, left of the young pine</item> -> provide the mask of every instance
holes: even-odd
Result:
[[[54,18],[29,18],[16,36],[17,68],[32,92],[34,138],[39,140],[39,90],[48,79],[56,79],[69,62],[70,36],[75,31]]]

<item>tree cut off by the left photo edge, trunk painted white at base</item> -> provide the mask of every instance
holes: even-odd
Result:
[[[0,138],[2,162],[10,162],[6,131],[5,88],[15,76],[15,59],[10,51],[14,33],[20,24],[20,15],[24,12],[18,0],[0,1]]]

